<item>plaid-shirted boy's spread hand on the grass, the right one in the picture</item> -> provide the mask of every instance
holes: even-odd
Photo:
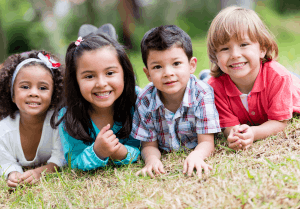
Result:
[[[189,156],[185,159],[183,164],[183,173],[187,173],[188,176],[192,176],[194,168],[196,168],[197,176],[200,178],[202,176],[202,169],[204,170],[204,173],[206,175],[209,173],[209,170],[212,169],[210,165],[207,165],[203,161],[201,154],[196,150],[191,152]]]

